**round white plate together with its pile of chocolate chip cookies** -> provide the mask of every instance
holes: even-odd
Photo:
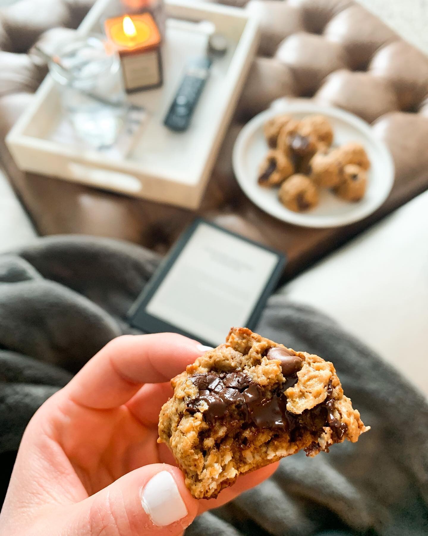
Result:
[[[361,220],[384,203],[394,182],[391,153],[368,123],[303,101],[253,117],[236,139],[233,168],[253,203],[304,227]]]

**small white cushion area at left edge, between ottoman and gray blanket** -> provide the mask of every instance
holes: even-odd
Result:
[[[17,248],[35,236],[27,214],[6,177],[0,172],[0,252]]]

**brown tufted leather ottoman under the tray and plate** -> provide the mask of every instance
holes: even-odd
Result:
[[[35,42],[54,47],[93,1],[20,0],[0,13],[0,155],[41,234],[119,237],[163,252],[195,213],[21,173],[4,145],[45,75],[31,47]],[[291,276],[428,188],[428,58],[350,0],[250,0],[246,9],[261,20],[259,56],[197,213],[285,251]],[[391,195],[375,214],[336,229],[293,227],[243,195],[231,166],[236,135],[244,122],[283,97],[330,103],[373,123],[396,166]]]

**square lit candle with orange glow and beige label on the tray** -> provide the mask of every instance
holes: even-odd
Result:
[[[161,34],[150,13],[107,19],[105,33],[118,50],[126,91],[162,85]]]

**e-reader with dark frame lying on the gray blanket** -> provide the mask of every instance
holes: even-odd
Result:
[[[255,327],[284,256],[197,220],[131,312],[143,331],[165,329],[217,346],[231,326]]]

